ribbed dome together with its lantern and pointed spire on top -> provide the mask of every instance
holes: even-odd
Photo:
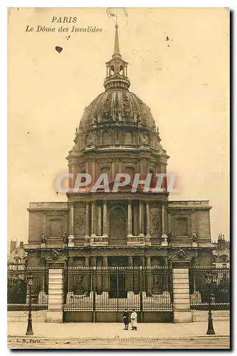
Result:
[[[106,64],[105,92],[98,95],[83,113],[78,132],[89,132],[96,128],[139,127],[156,130],[152,113],[148,106],[129,91],[127,77],[128,63],[122,59],[119,48],[117,24],[115,26],[115,48]]]

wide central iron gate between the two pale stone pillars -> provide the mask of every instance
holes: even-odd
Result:
[[[139,322],[172,318],[169,267],[73,266],[63,281],[65,321],[119,322],[125,308],[135,309]]]

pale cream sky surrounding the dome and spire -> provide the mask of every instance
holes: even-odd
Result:
[[[27,242],[30,201],[66,200],[54,184],[68,171],[84,108],[104,91],[109,14],[117,14],[130,91],[151,108],[179,181],[170,199],[209,200],[211,239],[229,240],[229,12],[214,8],[9,10],[8,239]]]

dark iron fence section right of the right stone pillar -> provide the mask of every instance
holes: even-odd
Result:
[[[207,276],[211,275],[211,283]],[[189,268],[189,293],[191,309],[207,310],[209,298],[213,310],[230,308],[230,271],[229,268],[214,266],[194,266]]]

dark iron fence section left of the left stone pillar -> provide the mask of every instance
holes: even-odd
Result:
[[[29,286],[27,277],[33,276],[31,286],[32,310],[48,309],[48,268],[8,266],[7,307],[8,310],[28,310]]]

